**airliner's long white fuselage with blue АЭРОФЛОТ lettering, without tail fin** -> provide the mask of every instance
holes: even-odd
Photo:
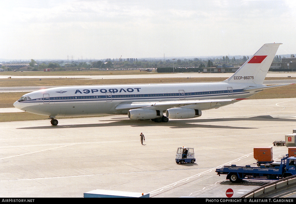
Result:
[[[26,100],[16,101],[14,106],[50,117],[126,114],[129,109],[116,110],[116,107],[131,102],[247,98],[255,94],[243,91],[249,86],[254,84],[213,82],[68,86],[25,94],[23,97],[27,97]]]

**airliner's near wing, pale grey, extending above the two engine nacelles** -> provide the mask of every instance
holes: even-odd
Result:
[[[160,101],[160,102],[132,102],[121,103],[115,110],[156,109],[167,110],[172,107],[186,107],[199,110],[208,110],[229,105],[243,99],[208,99],[208,100],[178,100],[178,101]]]

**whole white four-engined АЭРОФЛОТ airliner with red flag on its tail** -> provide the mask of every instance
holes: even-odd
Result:
[[[264,44],[231,77],[213,83],[129,84],[67,86],[41,89],[23,95],[13,105],[20,110],[56,116],[128,114],[133,120],[168,122],[195,118],[202,110],[222,107],[246,99],[265,86],[271,62],[281,43]]]

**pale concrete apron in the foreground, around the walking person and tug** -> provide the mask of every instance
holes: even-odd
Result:
[[[254,147],[292,134],[296,98],[249,99],[168,123],[126,115],[0,123],[0,197],[83,197],[93,189],[150,197],[240,197],[270,181],[232,184],[215,169],[256,163]],[[140,133],[145,135],[141,145]],[[196,162],[176,164],[178,147],[194,147]]]

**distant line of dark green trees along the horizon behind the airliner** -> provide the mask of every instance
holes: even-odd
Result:
[[[292,56],[292,55],[291,55]],[[33,70],[43,70],[46,68],[54,70],[71,70],[71,69],[83,69],[88,70],[91,68],[97,69],[120,69],[120,68],[205,68],[215,67],[226,64],[228,66],[241,66],[244,62],[249,59],[249,56],[243,56],[238,59],[235,57],[229,58],[227,55],[220,58],[209,58],[209,59],[168,59],[168,60],[157,60],[157,59],[141,59],[137,58],[119,58],[114,60],[106,58],[106,60],[98,60],[94,62],[65,62],[61,61],[44,61],[38,62],[31,59],[29,62],[30,67]],[[281,62],[281,56],[276,55],[274,62]],[[36,66],[38,64],[38,66]]]

